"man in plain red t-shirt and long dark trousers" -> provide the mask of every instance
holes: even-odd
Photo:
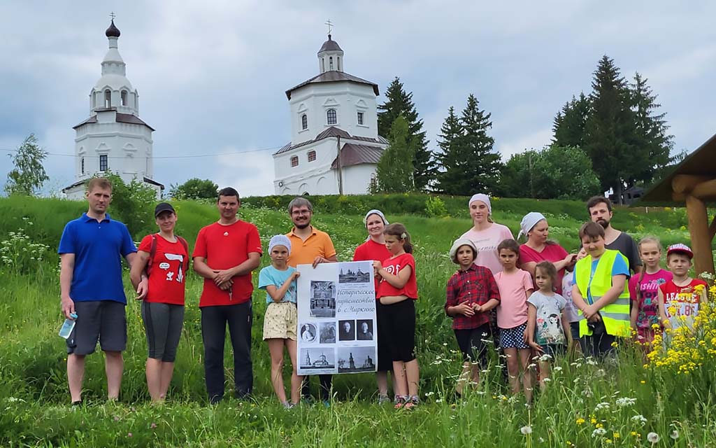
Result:
[[[224,394],[227,323],[233,346],[234,394],[239,399],[251,394],[251,271],[261,261],[258,229],[236,217],[238,192],[231,187],[221,189],[216,206],[221,217],[199,231],[192,254],[194,270],[204,277],[199,308],[206,391],[212,404],[221,401]]]

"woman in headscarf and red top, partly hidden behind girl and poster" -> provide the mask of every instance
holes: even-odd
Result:
[[[383,230],[388,225],[387,219],[382,211],[371,210],[365,215],[363,220],[365,228],[368,231],[368,239],[366,242],[356,247],[353,254],[354,262],[363,261],[382,261],[386,258],[391,257],[391,253],[385,248],[385,237]],[[378,277],[375,277],[375,292],[378,292]],[[377,297],[377,296],[376,296]],[[382,312],[383,308],[376,309],[376,320],[377,327],[382,328],[384,326],[385,315]],[[378,330],[377,335],[378,343],[378,371],[375,373],[375,378],[378,383],[378,404],[383,404],[390,401],[388,397],[388,371],[392,371],[392,355],[390,353],[390,346],[387,344],[387,339],[381,335]],[[393,391],[395,391],[395,375],[392,376],[394,380]]]

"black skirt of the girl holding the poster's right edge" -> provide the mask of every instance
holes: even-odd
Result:
[[[391,361],[405,363],[415,359],[415,300],[405,299],[392,305],[377,306],[382,308],[383,328],[378,330],[378,340],[384,338],[390,349]],[[386,340],[387,339],[387,340]],[[379,343],[380,345],[380,343]],[[380,356],[378,356],[380,362]]]

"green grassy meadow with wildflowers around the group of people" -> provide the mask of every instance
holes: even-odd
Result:
[[[243,200],[241,219],[256,224],[264,245],[272,235],[290,229],[285,210],[289,199]],[[104,364],[97,352],[87,358],[85,404],[70,407],[64,340],[57,336],[63,319],[56,252],[64,224],[87,206],[59,199],[0,198],[0,446],[716,446],[715,356],[688,374],[645,367],[641,352],[630,343],[619,346],[616,363],[562,358],[546,391],[537,394],[533,406],[526,406],[521,397],[509,395],[501,379],[503,360],[493,351],[480,386],[455,400],[461,361],[443,311],[445,282],[455,271],[447,252],[471,223],[467,198],[443,198],[444,208],[437,211],[426,211],[426,201],[427,196],[405,195],[314,199],[314,226],[331,235],[339,260],[351,259],[365,240],[362,214],[368,209],[382,209],[387,219],[402,222],[412,235],[420,292],[416,339],[422,404],[414,411],[397,411],[376,404],[372,374],[335,376],[329,408],[301,404],[283,409],[271,389],[269,351],[261,340],[261,292],[253,297],[253,401],[229,398],[233,372],[227,341],[227,398],[210,406],[197,306],[201,281],[193,273],[187,280],[185,326],[168,401],[159,406],[149,402],[140,307],[130,300],[120,401],[104,399]],[[175,207],[176,232],[190,246],[200,227],[218,218],[210,203],[180,201]],[[147,220],[137,224],[140,230],[132,235],[137,242],[155,229],[152,209],[153,204],[146,204]],[[577,229],[586,219],[584,204],[573,201],[495,199],[493,210],[495,221],[508,225],[513,234],[523,214],[542,211],[551,238],[568,250],[576,249]],[[654,234],[664,245],[689,242],[683,209],[617,209],[613,224],[637,239]],[[262,267],[268,262],[263,257]],[[125,285],[130,285],[128,272]],[[130,287],[127,297],[132,297]],[[708,334],[702,339],[714,343]],[[288,383],[288,366],[284,378]],[[311,384],[317,392],[317,381]]]

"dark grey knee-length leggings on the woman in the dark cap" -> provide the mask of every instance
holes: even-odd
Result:
[[[173,363],[184,326],[184,305],[142,301],[147,357]]]

